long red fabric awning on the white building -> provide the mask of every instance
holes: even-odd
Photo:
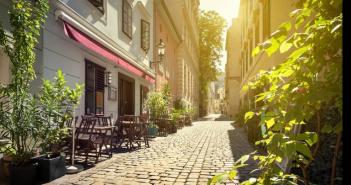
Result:
[[[130,64],[129,62],[127,62],[126,60],[124,60],[123,58],[118,56],[115,52],[111,51],[110,49],[106,48],[105,46],[98,43],[94,39],[90,38],[88,35],[81,32],[77,28],[73,27],[69,23],[63,21],[63,27],[64,27],[64,31],[65,31],[66,36],[68,36],[69,38],[77,41],[78,43],[82,44],[86,48],[102,55],[106,59],[115,62],[121,68],[123,68],[123,69],[125,69],[125,70],[139,76],[139,77],[144,78],[145,80],[149,81],[150,83],[155,83],[155,79],[152,76],[146,74],[143,70],[139,69],[138,67]]]

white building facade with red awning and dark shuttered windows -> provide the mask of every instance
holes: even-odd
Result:
[[[50,12],[36,48],[34,93],[42,78],[52,79],[62,69],[68,85],[85,84],[76,115],[139,115],[145,95],[155,82],[150,67],[152,1],[49,2]],[[9,2],[0,3],[1,18],[8,19],[2,14],[7,14]],[[9,71],[9,65],[6,56],[0,57],[0,78],[6,82],[3,70]]]

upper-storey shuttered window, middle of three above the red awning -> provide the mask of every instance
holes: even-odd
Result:
[[[132,38],[132,6],[128,0],[123,0],[122,5],[122,31]]]

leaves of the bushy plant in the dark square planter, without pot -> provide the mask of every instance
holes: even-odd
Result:
[[[56,152],[55,147],[67,135],[65,122],[72,119],[75,106],[83,92],[83,86],[76,84],[75,89],[66,86],[61,70],[57,72],[54,81],[44,80],[39,94],[40,109],[45,122],[41,143],[44,151]]]

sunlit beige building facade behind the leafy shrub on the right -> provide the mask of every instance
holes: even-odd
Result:
[[[281,63],[286,55],[275,54],[268,57],[260,53],[252,57],[257,44],[265,41],[279,25],[290,19],[295,0],[241,0],[239,16],[233,20],[228,30],[226,66],[227,104],[232,116],[240,108],[252,108],[254,100],[242,87],[255,78],[260,70],[268,70]],[[239,72],[240,70],[240,72]],[[240,74],[240,75],[239,75]]]

